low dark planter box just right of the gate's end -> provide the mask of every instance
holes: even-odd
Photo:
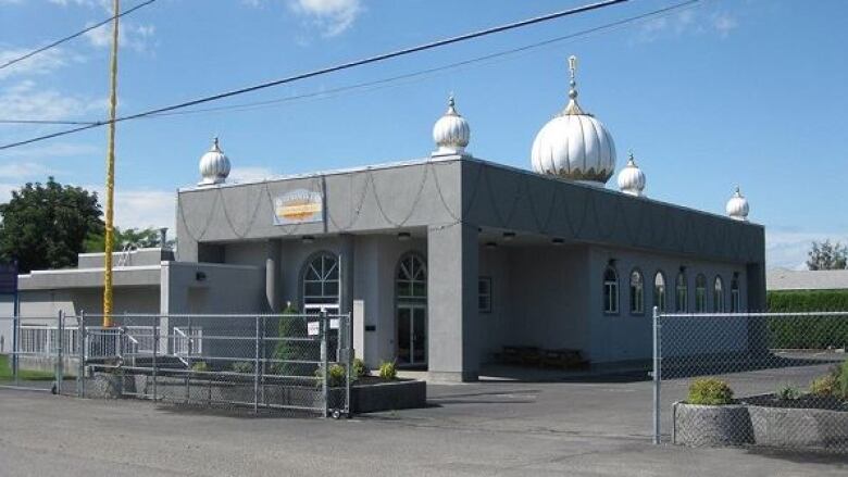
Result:
[[[353,413],[426,407],[427,384],[417,380],[378,382],[350,388]]]

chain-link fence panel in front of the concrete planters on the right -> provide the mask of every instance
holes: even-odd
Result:
[[[653,435],[848,453],[848,312],[660,314]]]

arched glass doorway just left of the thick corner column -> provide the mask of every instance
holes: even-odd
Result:
[[[397,317],[397,363],[399,366],[427,364],[427,265],[417,253],[407,253],[398,262],[395,276]]]

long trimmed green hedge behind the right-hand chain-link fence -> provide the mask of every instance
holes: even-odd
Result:
[[[769,291],[772,313],[848,311],[848,290]],[[771,348],[826,349],[848,346],[848,316],[769,318]]]

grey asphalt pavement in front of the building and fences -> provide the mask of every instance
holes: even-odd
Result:
[[[790,371],[799,381],[814,372]],[[771,390],[774,373],[749,373],[745,382]],[[664,406],[685,387],[666,382]],[[0,475],[848,474],[845,456],[652,445],[651,386],[636,375],[428,391],[427,409],[335,422],[0,390]]]

